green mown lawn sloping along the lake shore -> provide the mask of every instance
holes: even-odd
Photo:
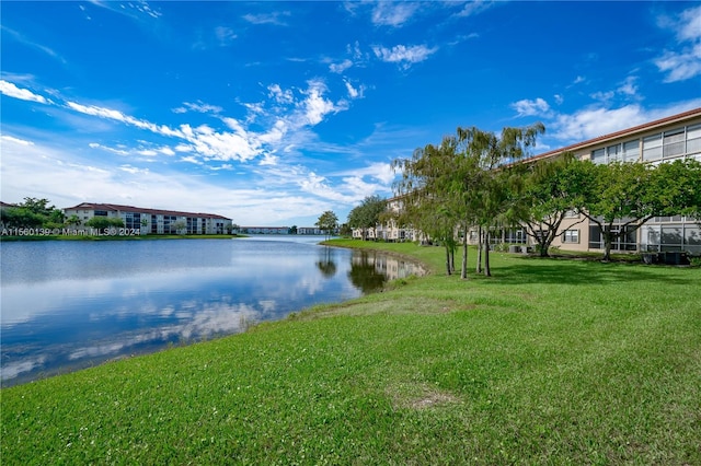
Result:
[[[701,464],[700,269],[363,246],[434,271],[2,389],[2,464]]]

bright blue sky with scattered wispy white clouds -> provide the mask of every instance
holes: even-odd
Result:
[[[1,198],[344,222],[458,126],[535,153],[701,107],[698,2],[0,5]]]

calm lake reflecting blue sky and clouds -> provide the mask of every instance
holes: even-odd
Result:
[[[421,273],[319,237],[0,243],[0,378],[237,334]]]

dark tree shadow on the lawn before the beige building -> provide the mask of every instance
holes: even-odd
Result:
[[[513,257],[492,268],[492,275],[515,284],[621,284],[631,281],[699,286],[701,272],[688,267],[646,266],[540,257]],[[489,280],[487,280],[489,281]]]

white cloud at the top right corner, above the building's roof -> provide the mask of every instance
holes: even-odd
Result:
[[[665,73],[665,82],[686,81],[701,74],[701,7],[685,10],[679,16],[660,18],[658,24],[676,33],[678,50],[665,50],[654,60]]]

